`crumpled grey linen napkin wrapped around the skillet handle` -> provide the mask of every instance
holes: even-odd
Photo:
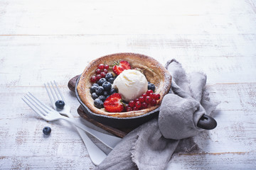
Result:
[[[172,79],[170,94],[164,96],[159,118],[129,132],[95,169],[165,169],[181,139],[203,131],[196,124],[203,114],[218,105],[205,89],[206,75],[186,74],[176,60],[166,63]]]

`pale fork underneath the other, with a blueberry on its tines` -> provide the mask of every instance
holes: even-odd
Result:
[[[70,106],[65,100],[56,82],[50,81],[50,84],[47,84],[48,86],[46,86],[46,84],[44,85],[46,87],[46,91],[48,97],[50,98],[50,103],[52,103],[53,108],[60,114],[68,116],[68,118],[74,118],[73,115],[70,113]],[[55,106],[55,102],[58,100],[62,100],[65,103],[64,108],[61,110]],[[85,143],[85,147],[87,148],[87,152],[90,156],[90,159],[92,160],[92,163],[95,165],[100,164],[100,162],[102,162],[107,157],[107,154],[105,154],[105,152],[102,152],[102,150],[99,147],[97,147],[97,145],[95,145],[94,142],[90,140],[90,138],[86,135],[85,131],[81,130],[80,128],[76,129],[78,130],[78,134],[82,138],[82,141]]]

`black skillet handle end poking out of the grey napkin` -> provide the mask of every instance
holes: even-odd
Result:
[[[209,115],[202,115],[199,119],[197,127],[202,128],[205,130],[212,130],[216,128],[217,122],[214,118],[210,117]]]

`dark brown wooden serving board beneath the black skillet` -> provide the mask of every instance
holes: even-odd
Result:
[[[78,77],[79,75],[73,77],[72,79],[70,79],[70,81],[68,81],[68,89],[70,89],[70,91],[75,92],[75,82],[77,81]],[[87,113],[85,113],[85,111],[82,110],[82,106],[79,106],[77,111],[78,114],[85,120],[89,121],[94,125],[97,125],[97,127],[102,128],[103,130],[106,130],[107,132],[110,132],[117,137],[124,137],[125,135],[127,135],[128,132],[133,130],[125,128],[112,128],[108,125],[103,125],[102,123],[99,123],[96,120],[90,118],[90,116],[88,116]]]

